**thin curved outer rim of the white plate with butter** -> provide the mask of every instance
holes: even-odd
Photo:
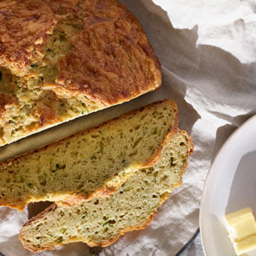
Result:
[[[243,128],[245,128],[250,122],[254,121],[254,119],[256,120],[256,114],[254,114],[251,117],[249,117],[238,128],[236,128],[231,135],[229,135],[229,137],[226,139],[226,141],[220,147],[219,152],[216,154],[216,156],[213,159],[213,162],[212,162],[211,166],[209,167],[209,170],[208,170],[208,173],[207,173],[207,178],[206,178],[206,180],[204,182],[204,187],[203,187],[202,194],[201,194],[200,214],[199,214],[200,240],[201,240],[201,245],[202,245],[202,248],[203,248],[203,253],[204,253],[205,256],[212,256],[212,255],[209,255],[209,253],[207,253],[207,247],[205,246],[205,242],[204,242],[204,238],[203,238],[203,233],[202,233],[202,229],[203,229],[202,228],[202,218],[203,218],[202,217],[202,205],[203,205],[203,202],[205,201],[206,194],[207,194],[207,182],[209,180],[209,174],[213,173],[213,166],[216,164],[216,162],[218,161],[220,155],[222,154],[222,152],[225,150],[225,148],[229,144],[229,141],[233,140],[233,137],[235,135],[237,135],[238,133],[240,133],[240,131]]]

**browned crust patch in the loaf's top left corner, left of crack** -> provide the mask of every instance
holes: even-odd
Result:
[[[44,1],[3,1],[0,24],[0,65],[24,74],[30,62],[43,54],[56,18]]]

